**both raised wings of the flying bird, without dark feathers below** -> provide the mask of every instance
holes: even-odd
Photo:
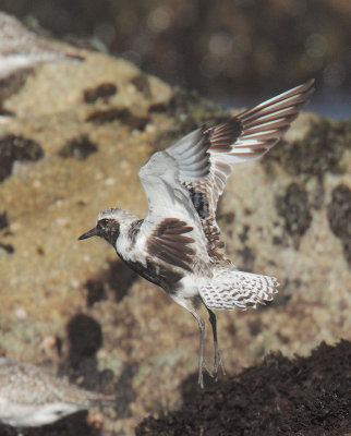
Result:
[[[197,129],[155,153],[138,172],[148,201],[143,227],[178,218],[193,227],[187,237],[204,242],[207,252],[218,256],[216,250],[223,244],[216,223],[217,202],[232,165],[263,156],[281,138],[307,104],[313,83],[296,86],[215,128]]]

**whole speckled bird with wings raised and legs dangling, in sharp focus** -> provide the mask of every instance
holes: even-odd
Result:
[[[313,93],[308,81],[217,126],[199,128],[138,171],[148,201],[144,219],[119,208],[102,210],[94,229],[80,239],[101,237],[132,269],[164,288],[197,320],[198,383],[203,386],[205,323],[195,300],[207,308],[215,344],[214,375],[223,365],[211,310],[246,310],[269,301],[276,278],[235,269],[223,247],[216,209],[232,166],[267,153],[289,129]],[[209,371],[208,371],[209,372]]]

